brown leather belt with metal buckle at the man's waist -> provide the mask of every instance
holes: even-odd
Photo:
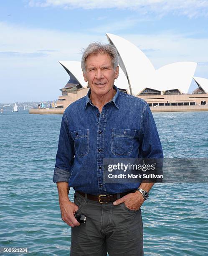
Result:
[[[131,190],[131,191],[127,191],[127,192],[123,192],[123,193],[119,193],[119,194],[120,194],[120,197],[123,197],[124,195],[132,193],[134,191],[135,190]],[[82,195],[83,197],[85,197],[85,193],[80,192],[80,191],[76,191],[76,192],[78,194]],[[87,194],[87,198],[89,200],[97,201],[101,204],[108,203],[108,202],[114,202],[118,199],[117,194],[113,194],[113,195],[91,195],[91,194]]]

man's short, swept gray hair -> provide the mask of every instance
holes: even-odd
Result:
[[[111,44],[101,44],[100,42],[94,42],[89,44],[86,49],[84,49],[81,58],[81,69],[82,72],[86,73],[86,59],[89,55],[96,54],[108,54],[112,59],[112,65],[114,70],[116,70],[119,64],[119,54],[115,46]]]

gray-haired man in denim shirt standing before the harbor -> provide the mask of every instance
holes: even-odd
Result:
[[[140,207],[153,182],[109,183],[104,159],[162,158],[149,105],[119,92],[114,46],[93,43],[81,68],[90,90],[63,113],[53,182],[61,217],[71,226],[71,256],[143,255]],[[68,198],[76,191],[74,202]],[[138,190],[137,190],[138,189]],[[76,214],[86,216],[80,224]]]

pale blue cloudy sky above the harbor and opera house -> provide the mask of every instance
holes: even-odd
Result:
[[[105,33],[155,69],[194,61],[208,79],[208,0],[0,0],[0,102],[57,100],[69,80],[58,61],[80,61],[92,41],[108,43]]]

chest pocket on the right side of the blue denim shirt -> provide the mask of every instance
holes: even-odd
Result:
[[[112,129],[111,151],[114,155],[129,155],[132,152],[136,130]]]

